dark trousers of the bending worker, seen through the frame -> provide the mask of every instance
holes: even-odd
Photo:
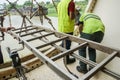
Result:
[[[104,33],[101,31],[95,32],[93,34],[86,34],[86,33],[81,33],[81,38],[85,38],[88,40],[92,40],[95,42],[100,43],[103,40]],[[79,55],[83,56],[86,58],[86,49],[87,47],[83,47],[79,50]],[[93,48],[88,47],[88,55],[89,55],[89,60],[96,62],[96,50]],[[83,62],[79,62],[81,69],[87,70],[87,65]]]

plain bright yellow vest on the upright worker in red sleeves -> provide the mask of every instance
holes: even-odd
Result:
[[[71,0],[62,0],[58,6],[58,31],[70,33],[74,30],[75,20],[71,20],[68,15],[68,5]]]

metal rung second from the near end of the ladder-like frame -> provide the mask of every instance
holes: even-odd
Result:
[[[82,44],[78,45],[77,47],[75,47],[75,48],[73,48],[73,49],[65,50],[63,53],[60,53],[60,54],[52,57],[52,59],[53,59],[53,60],[60,59],[60,58],[66,56],[66,55],[68,55],[68,54],[72,54],[74,51],[80,49],[81,47],[87,46],[87,45],[88,45],[87,42],[82,43]]]

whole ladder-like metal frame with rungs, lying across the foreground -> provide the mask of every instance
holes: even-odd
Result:
[[[47,29],[47,28],[43,28],[43,27],[40,27],[40,26],[32,26],[32,27],[33,27],[33,29],[35,27],[38,30],[36,30],[34,32],[30,32],[31,29],[27,28],[29,33],[25,33],[25,34],[23,34],[21,36],[18,35],[20,33],[20,31],[18,31],[18,30],[20,30],[20,29],[10,31],[9,33],[12,36],[16,37],[16,39],[22,41],[24,43],[24,45],[29,50],[31,50],[43,63],[45,63],[48,67],[50,67],[61,78],[64,78],[65,80],[88,80],[92,76],[94,76],[94,74],[97,73],[99,70],[102,70],[103,72],[107,73],[108,75],[110,75],[110,76],[112,76],[112,77],[114,77],[116,79],[120,79],[119,74],[116,74],[116,73],[104,68],[104,66],[106,64],[108,64],[112,59],[114,59],[114,57],[116,57],[116,56],[120,57],[120,50],[116,50],[116,49],[113,49],[113,48],[110,48],[110,47],[107,47],[107,46],[103,46],[103,45],[101,45],[99,43],[96,43],[96,42],[93,42],[93,41],[89,41],[89,40],[82,39],[82,38],[77,38],[77,37],[74,37],[74,36],[71,36],[71,35],[68,35],[68,34],[60,33],[60,32],[50,30],[50,29]],[[22,30],[22,32],[25,32],[25,31],[26,30]],[[29,39],[29,40],[24,40],[23,39],[24,36],[38,34],[41,31],[46,32],[47,34],[44,34],[44,35],[41,35],[41,36],[36,36],[36,37],[33,37],[33,38]],[[34,41],[36,39],[41,39],[42,37],[53,35],[53,34],[55,35],[55,37],[57,37],[59,39],[54,40],[54,41],[45,41],[45,44],[40,45],[38,47],[32,47],[32,45],[29,44],[30,41]],[[66,39],[69,39],[69,40],[71,40],[73,42],[79,43],[80,45],[77,45],[76,47],[74,47],[74,48],[72,48],[70,50],[66,50],[65,48],[55,44],[58,41],[62,41],[62,40],[66,40]],[[38,49],[43,48],[43,47],[48,46],[48,45],[51,45],[51,46],[55,47],[56,49],[60,50],[61,53],[54,56],[54,57],[52,57],[52,58],[46,57]],[[97,64],[95,62],[87,60],[86,58],[83,58],[81,56],[78,56],[78,55],[74,54],[74,51],[79,50],[81,47],[84,47],[84,46],[89,46],[89,47],[95,48],[97,50],[103,51],[103,52],[108,53],[110,55],[106,59],[104,59],[101,63]],[[85,63],[87,63],[87,64],[89,64],[91,66],[93,66],[94,68],[91,71],[89,71],[87,74],[85,74],[83,77],[81,77],[80,79],[77,79],[76,77],[74,77],[70,73],[67,73],[64,70],[62,70],[54,62],[55,60],[60,59],[60,58],[66,56],[68,54],[70,54],[73,57],[75,57],[75,58],[77,58],[77,59],[79,59],[79,60],[81,60],[81,61],[83,61],[83,62],[85,62]]]

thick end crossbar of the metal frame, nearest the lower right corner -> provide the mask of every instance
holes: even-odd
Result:
[[[99,63],[96,67],[94,67],[92,70],[90,70],[88,73],[86,73],[82,79],[83,80],[89,80],[95,73],[97,73],[99,70],[101,70],[107,63],[109,63],[118,52],[114,51],[111,55],[109,55],[107,58],[105,58],[101,63]]]

